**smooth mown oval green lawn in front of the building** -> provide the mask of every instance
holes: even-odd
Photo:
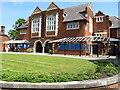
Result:
[[[2,69],[16,71],[39,71],[42,73],[81,73],[95,71],[96,65],[87,60],[23,54],[2,54]]]

